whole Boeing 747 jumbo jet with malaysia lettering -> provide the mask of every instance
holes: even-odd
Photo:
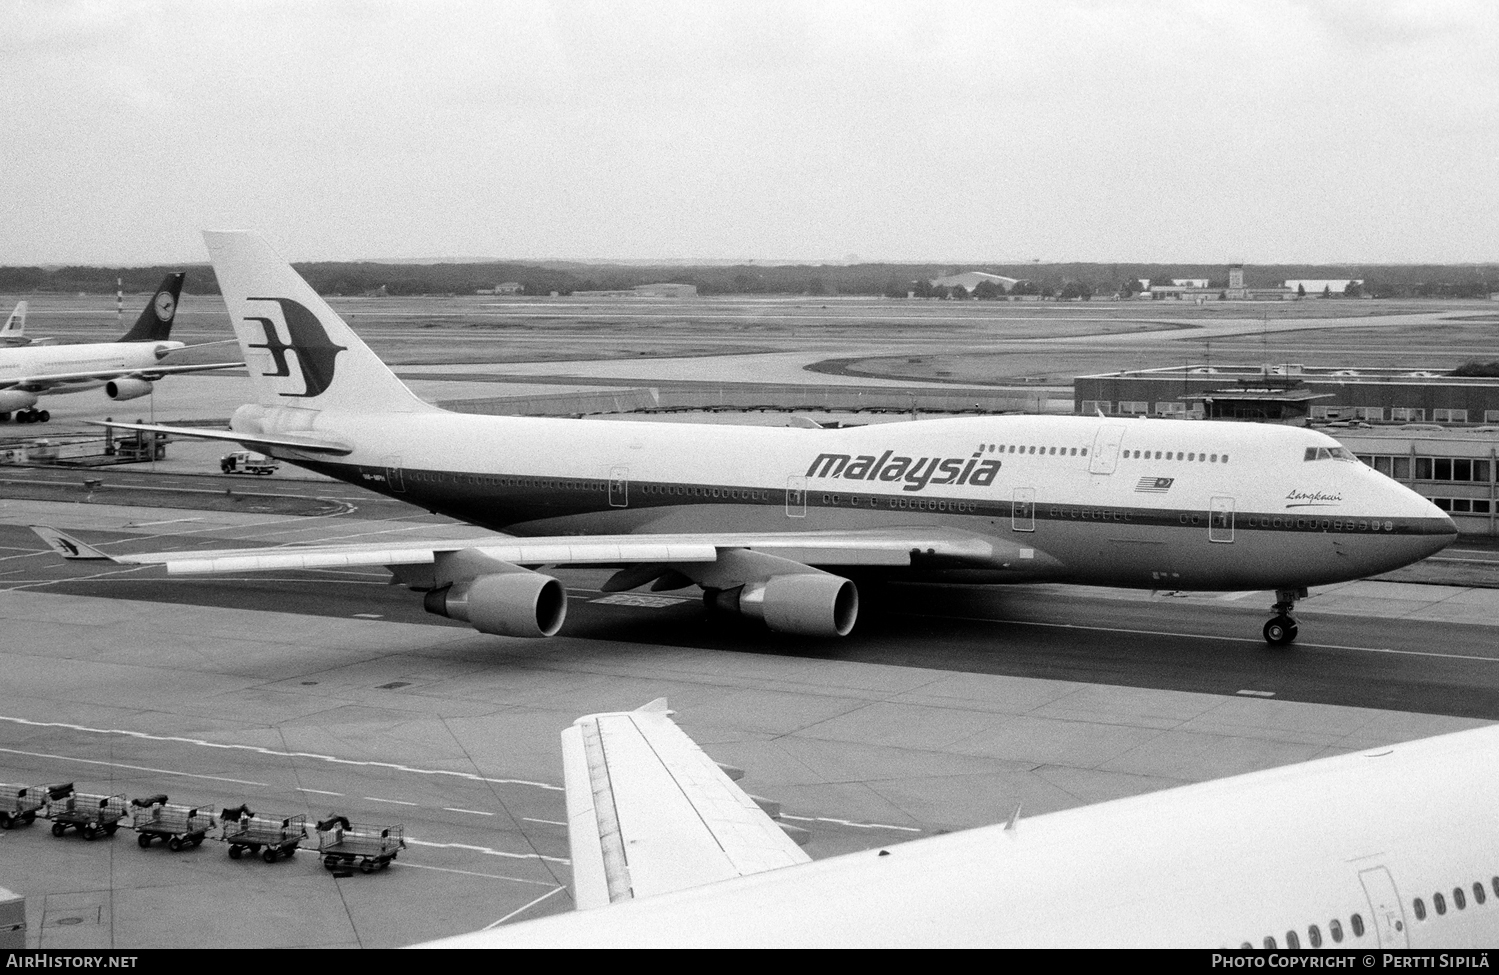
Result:
[[[1307,586],[1414,562],[1457,536],[1337,441],[1285,426],[1009,416],[823,430],[447,412],[261,237],[205,238],[255,402],[231,430],[114,426],[235,441],[519,537],[117,561],[388,566],[430,612],[508,636],[562,626],[565,590],[537,566],[618,567],[609,591],[696,584],[712,608],[812,636],[847,634],[857,586],[880,580],[1273,590],[1265,639],[1289,644]],[[102,558],[72,556],[85,555]]]

